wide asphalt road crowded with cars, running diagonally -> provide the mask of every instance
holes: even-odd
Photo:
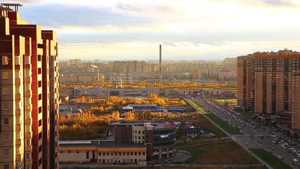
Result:
[[[226,121],[232,127],[241,127],[240,131],[243,135],[231,135],[232,139],[235,139],[239,144],[244,145],[243,147],[246,148],[264,148],[265,150],[271,152],[274,156],[282,156],[283,161],[288,164],[289,166],[297,169],[298,166],[293,164],[293,159],[297,158],[296,155],[284,150],[280,147],[280,144],[273,143],[272,137],[270,138],[269,135],[276,135],[278,138],[282,136],[283,138],[279,139],[279,141],[283,140],[285,143],[288,141],[294,141],[295,143],[297,140],[293,140],[289,138],[287,135],[283,134],[279,130],[275,131],[275,127],[270,127],[265,124],[261,124],[258,120],[252,120],[252,118],[241,117],[236,114],[234,111],[230,111],[229,109],[221,106],[220,104],[210,101],[210,100],[196,100],[201,105],[205,106],[211,112],[215,113],[221,119]],[[262,126],[262,127],[260,127]],[[263,138],[261,138],[263,135]],[[286,139],[286,140],[284,140]],[[290,143],[289,143],[290,144]],[[290,145],[291,146],[291,145]],[[296,150],[300,150],[300,145],[293,145]]]

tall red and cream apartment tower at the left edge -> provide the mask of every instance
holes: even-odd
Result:
[[[19,6],[0,6],[0,169],[55,169],[56,33],[22,20]]]

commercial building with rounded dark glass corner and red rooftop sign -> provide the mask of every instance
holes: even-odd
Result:
[[[147,160],[168,159],[174,156],[176,127],[163,121],[112,122],[116,141],[143,143]]]

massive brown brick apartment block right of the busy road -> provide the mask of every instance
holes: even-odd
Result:
[[[237,99],[245,110],[274,115],[292,113],[292,129],[300,129],[300,53],[256,52],[237,57]]]

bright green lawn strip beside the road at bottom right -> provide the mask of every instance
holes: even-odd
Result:
[[[293,169],[268,151],[262,149],[250,150],[259,158],[261,158],[265,163],[270,165],[273,169]]]

